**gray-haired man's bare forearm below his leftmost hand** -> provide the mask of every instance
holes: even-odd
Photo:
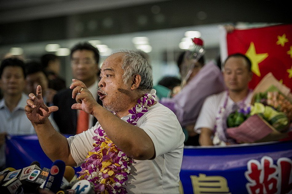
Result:
[[[42,150],[52,161],[59,159],[63,160],[66,165],[76,165],[70,155],[67,139],[54,129],[49,119],[46,119],[44,124],[33,124],[33,126]]]

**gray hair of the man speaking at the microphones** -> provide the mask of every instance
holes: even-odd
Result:
[[[150,92],[153,88],[152,68],[147,59],[136,51],[119,50],[115,53],[124,53],[122,69],[124,70],[123,78],[124,84],[132,79],[135,75],[141,76],[141,83],[138,87],[139,93],[144,94]]]

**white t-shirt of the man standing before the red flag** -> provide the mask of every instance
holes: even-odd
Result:
[[[207,97],[195,124],[194,130],[196,133],[200,134],[201,128],[208,128],[215,133],[215,125],[217,125],[216,117],[219,116],[220,109],[224,107],[226,98],[227,98],[226,107],[231,107],[232,105],[240,104],[243,102],[243,101],[239,101],[235,103],[229,96],[227,96],[227,91],[223,91],[218,94],[214,94]],[[252,99],[252,92],[250,92],[247,95],[247,98],[244,100],[244,103],[246,105],[249,105],[251,103],[251,99]],[[217,134],[215,133],[214,139],[215,138],[217,139],[216,135]]]

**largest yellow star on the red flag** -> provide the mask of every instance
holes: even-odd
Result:
[[[258,68],[258,63],[261,63],[263,60],[265,60],[269,55],[268,53],[261,53],[257,54],[255,51],[255,44],[251,42],[249,48],[247,49],[247,52],[245,55],[251,59],[251,70],[254,72],[258,77],[261,76],[261,72]]]

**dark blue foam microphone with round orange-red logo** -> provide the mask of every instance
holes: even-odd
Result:
[[[59,191],[64,172],[65,162],[63,162],[62,160],[56,160],[55,162],[53,162],[49,175],[44,182],[43,188],[54,193]]]

